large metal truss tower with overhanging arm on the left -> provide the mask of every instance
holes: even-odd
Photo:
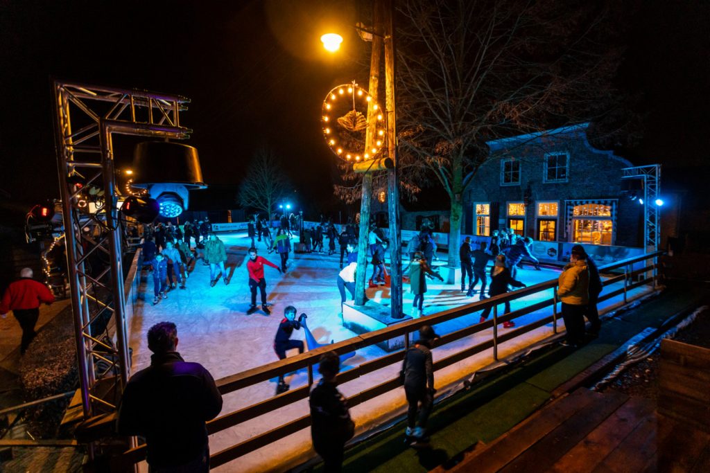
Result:
[[[58,80],[52,94],[67,277],[82,408],[89,418],[116,407],[130,372],[112,135],[187,138],[191,130],[180,126],[180,111],[190,100]],[[105,267],[90,267],[89,257],[97,255],[108,260]],[[109,316],[115,343],[92,333],[92,323]]]

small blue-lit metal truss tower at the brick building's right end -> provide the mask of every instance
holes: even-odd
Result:
[[[643,179],[643,247],[648,252],[660,246],[661,165],[625,167],[622,179]]]

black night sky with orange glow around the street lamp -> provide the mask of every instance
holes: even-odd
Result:
[[[641,94],[645,134],[625,152],[636,164],[706,165],[710,2],[639,5],[618,82]],[[268,145],[300,200],[334,201],[320,106],[334,85],[366,87],[369,45],[351,30],[335,57],[318,38],[358,19],[347,1],[2,1],[0,189],[22,203],[58,196],[55,76],[188,96],[181,123],[208,184],[238,184]],[[129,163],[131,147],[117,143],[116,160]]]

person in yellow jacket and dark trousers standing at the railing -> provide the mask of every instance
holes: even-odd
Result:
[[[557,296],[562,301],[562,318],[567,330],[562,345],[577,347],[584,341],[584,312],[589,303],[589,268],[578,250],[573,249],[569,255],[558,286]]]

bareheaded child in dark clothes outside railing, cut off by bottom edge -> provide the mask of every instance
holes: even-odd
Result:
[[[340,357],[335,352],[325,352],[320,357],[318,372],[322,379],[310,393],[308,404],[311,413],[311,438],[313,449],[323,459],[323,471],[340,472],[345,443],[353,438],[355,423],[350,418],[347,401],[337,389]]]

